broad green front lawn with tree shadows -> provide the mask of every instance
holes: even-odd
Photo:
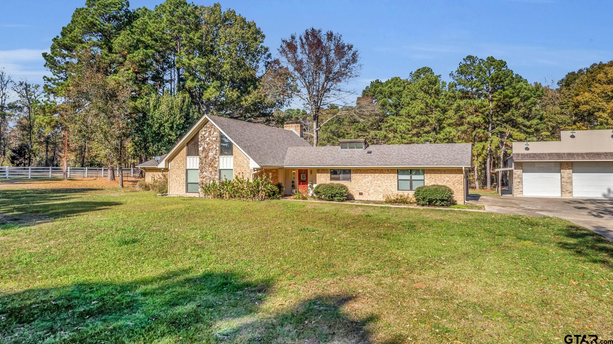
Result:
[[[613,339],[613,244],[559,219],[5,189],[0,224],[3,343]]]

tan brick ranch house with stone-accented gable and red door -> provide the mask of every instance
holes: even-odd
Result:
[[[270,175],[284,194],[297,187],[336,182],[356,200],[384,200],[413,193],[421,185],[442,184],[465,202],[471,144],[373,144],[340,140],[338,146],[313,147],[302,125],[268,127],[205,115],[166,155],[138,165],[151,181],[168,174],[169,195],[202,196],[199,185],[235,176]]]

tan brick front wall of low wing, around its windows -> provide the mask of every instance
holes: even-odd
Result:
[[[464,203],[464,176],[462,169],[425,169],[424,184],[447,185],[454,192],[458,204]],[[330,182],[330,169],[317,169],[318,184]],[[350,198],[356,200],[383,201],[385,195],[395,193],[413,194],[413,191],[398,190],[398,171],[395,168],[352,168],[351,181],[333,181],[347,185]],[[362,192],[362,195],[359,193]]]

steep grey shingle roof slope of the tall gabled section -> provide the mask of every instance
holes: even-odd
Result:
[[[218,116],[208,118],[260,166],[283,166],[287,148],[310,147],[291,130]]]

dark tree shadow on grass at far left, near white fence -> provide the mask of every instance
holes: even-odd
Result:
[[[85,192],[99,189],[10,189],[0,190],[0,230],[11,226],[29,226],[97,211],[123,203],[116,201],[69,201],[82,199]]]

